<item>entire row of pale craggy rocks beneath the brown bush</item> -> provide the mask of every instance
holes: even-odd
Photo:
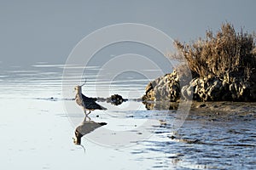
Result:
[[[247,81],[241,77],[198,77],[180,89],[176,71],[149,82],[144,101],[256,101],[256,72]]]

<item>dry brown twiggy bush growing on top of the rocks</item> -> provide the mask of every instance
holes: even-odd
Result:
[[[229,73],[246,81],[256,68],[255,35],[242,29],[236,32],[230,23],[223,24],[216,34],[206,31],[205,39],[189,44],[176,40],[175,45],[188,61],[193,77],[224,77]]]

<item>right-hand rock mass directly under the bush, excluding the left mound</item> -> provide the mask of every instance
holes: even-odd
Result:
[[[186,98],[193,94],[199,101],[254,101],[255,82],[245,82],[236,77],[195,78],[182,88]]]

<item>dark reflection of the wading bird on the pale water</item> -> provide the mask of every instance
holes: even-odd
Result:
[[[90,120],[89,116],[85,116],[84,121],[75,129],[74,144],[81,144],[81,139],[85,134],[91,133],[98,127],[107,125],[107,122],[94,122]]]

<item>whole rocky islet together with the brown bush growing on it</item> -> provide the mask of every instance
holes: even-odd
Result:
[[[180,65],[148,83],[143,100],[256,101],[255,35],[230,23],[206,33],[195,42],[175,41],[177,53],[168,56]]]

